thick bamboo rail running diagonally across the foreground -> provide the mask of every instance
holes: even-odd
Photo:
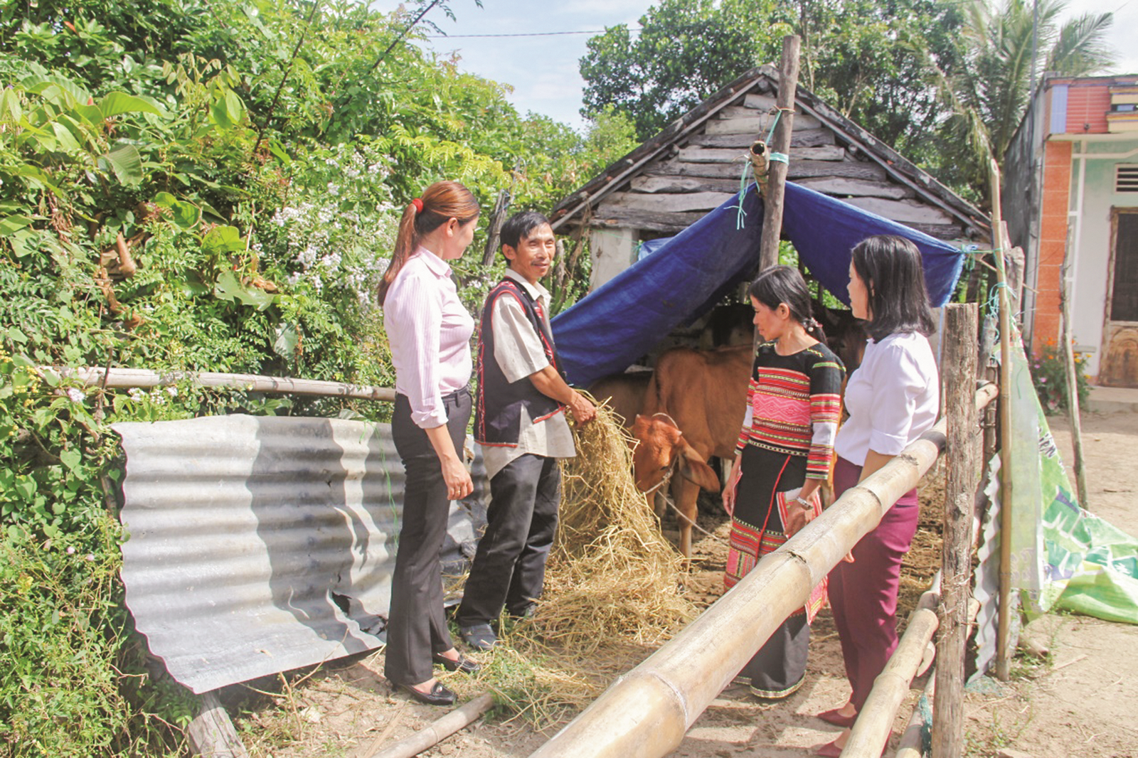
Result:
[[[984,385],[978,407],[996,396]],[[945,446],[941,419],[900,455],[850,488],[731,592],[610,686],[531,758],[659,758],[770,637],[810,591],[897,499],[912,489]]]

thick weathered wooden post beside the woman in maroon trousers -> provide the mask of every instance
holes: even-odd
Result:
[[[945,486],[941,555],[940,635],[937,640],[937,703],[933,758],[956,758],[964,749],[964,646],[967,638],[972,575],[972,510],[975,502],[976,384],[975,303],[945,308],[946,415],[948,477]]]

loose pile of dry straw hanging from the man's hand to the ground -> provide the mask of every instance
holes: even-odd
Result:
[[[545,724],[583,708],[698,615],[681,594],[683,558],[633,483],[618,417],[599,406],[574,436],[544,594],[533,618],[508,629],[509,657],[495,654],[495,668],[505,658],[516,683],[519,668],[528,679],[525,694],[495,687],[500,698]]]

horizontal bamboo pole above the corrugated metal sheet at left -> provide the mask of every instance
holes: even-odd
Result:
[[[51,371],[60,379],[77,379],[88,387],[110,387],[115,389],[168,387],[180,381],[192,381],[201,387],[229,387],[257,393],[288,393],[292,395],[320,395],[325,397],[353,397],[357,399],[395,401],[395,390],[387,387],[348,385],[341,381],[318,379],[288,379],[263,377],[255,373],[215,373],[212,371],[150,371],[148,369],[104,369],[40,366],[40,371]]]

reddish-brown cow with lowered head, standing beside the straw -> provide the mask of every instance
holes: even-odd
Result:
[[[679,521],[679,552],[692,554],[700,488],[719,491],[719,477],[707,461],[731,459],[743,426],[751,346],[716,351],[670,349],[655,364],[644,407],[633,423],[640,442],[633,472],[641,492],[660,487],[671,471],[671,494]]]

